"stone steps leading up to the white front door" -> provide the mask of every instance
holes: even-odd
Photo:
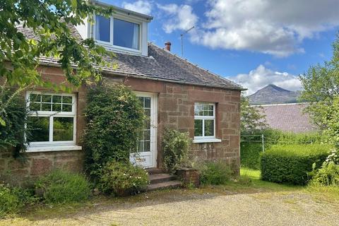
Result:
[[[147,191],[154,191],[157,189],[176,189],[182,186],[182,182],[177,180],[173,174],[167,174],[162,169],[150,168],[147,169],[150,184]]]

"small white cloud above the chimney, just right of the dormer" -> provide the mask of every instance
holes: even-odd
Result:
[[[198,21],[198,16],[193,13],[193,8],[189,5],[157,4],[157,8],[160,8],[169,16],[169,19],[162,26],[167,33],[174,30],[187,30],[196,25]]]

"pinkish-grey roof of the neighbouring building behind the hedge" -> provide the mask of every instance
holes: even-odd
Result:
[[[311,123],[309,114],[303,112],[307,103],[261,105],[261,107],[266,114],[266,122],[272,129],[295,133],[317,130]]]

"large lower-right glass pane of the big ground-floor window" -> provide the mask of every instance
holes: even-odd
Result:
[[[54,117],[53,141],[73,141],[73,117]]]

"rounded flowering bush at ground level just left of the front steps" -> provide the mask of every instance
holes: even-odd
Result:
[[[105,194],[125,196],[138,194],[148,186],[148,173],[131,163],[108,162],[102,169],[97,186]]]

